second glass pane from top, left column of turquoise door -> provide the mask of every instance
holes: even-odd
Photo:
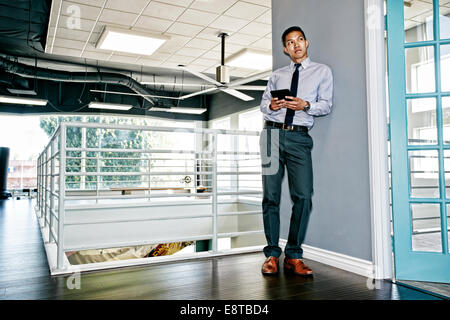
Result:
[[[405,50],[406,92],[435,91],[434,47],[418,47]]]

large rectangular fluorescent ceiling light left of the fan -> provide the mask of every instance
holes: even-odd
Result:
[[[96,48],[152,55],[169,37],[120,28],[105,27]]]

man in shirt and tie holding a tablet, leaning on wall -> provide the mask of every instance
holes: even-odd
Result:
[[[264,130],[260,147],[263,169],[263,220],[267,246],[264,275],[278,273],[278,246],[280,235],[281,182],[285,166],[289,191],[293,202],[288,241],[285,248],[284,269],[302,276],[312,275],[312,270],[301,260],[301,244],[305,238],[312,209],[313,174],[311,149],[313,141],[308,131],[314,116],[324,116],[331,111],[333,75],[328,66],[312,62],[308,57],[308,40],[300,27],[284,31],[284,53],[291,63],[275,70],[269,78],[261,101],[264,113]],[[277,99],[272,90],[290,89],[291,96]]]

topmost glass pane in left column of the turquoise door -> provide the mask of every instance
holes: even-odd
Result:
[[[433,40],[433,3],[405,1],[405,41]]]

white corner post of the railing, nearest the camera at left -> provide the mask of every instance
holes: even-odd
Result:
[[[66,191],[66,124],[60,124],[57,269],[64,267],[64,201]]]

